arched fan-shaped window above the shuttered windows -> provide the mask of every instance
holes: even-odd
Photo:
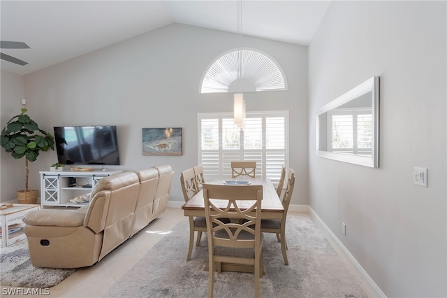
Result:
[[[203,76],[200,93],[287,90],[284,78],[279,64],[265,54],[257,50],[234,50],[221,55],[210,65]]]

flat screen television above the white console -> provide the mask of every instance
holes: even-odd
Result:
[[[54,127],[54,143],[60,164],[119,164],[117,127]]]

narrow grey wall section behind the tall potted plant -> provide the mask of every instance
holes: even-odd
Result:
[[[3,63],[3,62],[2,62]],[[20,104],[24,97],[23,77],[9,71],[1,71],[1,103],[0,103],[0,129],[5,127],[6,123],[13,116],[20,114],[23,108]],[[31,116],[33,114],[27,113]],[[0,149],[0,198],[1,201],[12,201],[16,199],[15,192],[25,189],[25,159],[14,159],[10,153],[3,148]],[[29,169],[38,169],[34,162],[29,162]],[[29,185],[36,189],[38,185]]]

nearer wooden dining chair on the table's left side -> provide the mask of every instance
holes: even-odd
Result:
[[[187,202],[194,194],[198,193],[198,187],[196,185],[196,176],[194,174],[194,169],[187,169],[180,174],[180,183],[182,184],[182,191],[184,201]],[[202,238],[202,232],[207,232],[207,223],[204,217],[200,216],[189,216],[189,250],[186,261],[191,260],[191,253],[193,251],[194,234],[197,231],[197,243],[200,243]]]

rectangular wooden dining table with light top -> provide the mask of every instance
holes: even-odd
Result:
[[[217,179],[212,180],[210,184],[226,185],[226,181],[233,181],[235,179]],[[282,219],[284,214],[284,206],[282,206],[281,199],[275,190],[273,183],[268,178],[247,178],[238,179],[249,181],[250,185],[263,185],[263,199],[261,203],[261,219]],[[237,180],[236,180],[237,181]],[[230,184],[228,184],[230,185]],[[189,201],[182,206],[184,216],[201,216],[205,217],[205,202],[203,201],[203,191],[200,190]],[[251,266],[244,266],[239,264],[222,264],[223,271],[240,271],[240,272],[254,272]],[[207,264],[205,265],[207,270]],[[265,274],[265,268],[263,268]]]

